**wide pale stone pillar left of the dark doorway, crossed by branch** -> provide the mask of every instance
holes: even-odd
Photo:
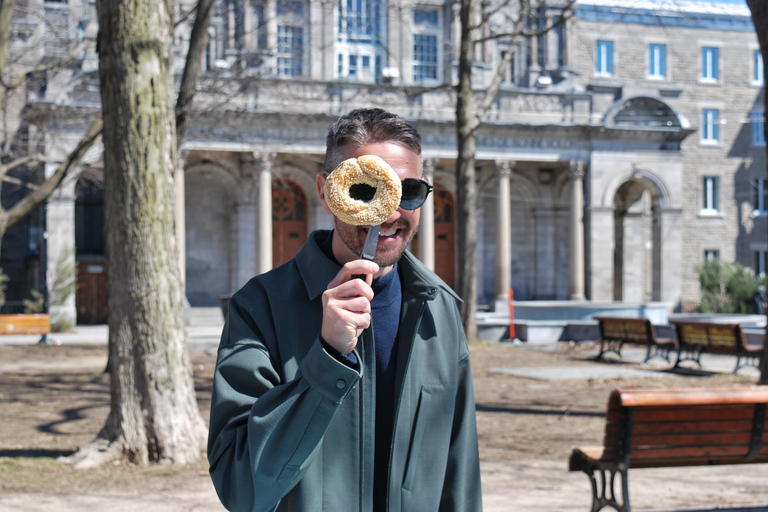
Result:
[[[45,177],[50,178],[56,171],[57,164],[45,164]],[[67,180],[48,198],[46,205],[45,253],[46,289],[48,297],[53,297],[53,283],[59,273],[66,273],[75,262],[75,184],[77,180]],[[70,268],[68,268],[70,267]],[[72,274],[74,275],[74,274]],[[63,296],[58,303],[49,302],[48,312],[51,323],[72,325],[77,322],[75,292],[77,282],[72,283],[67,293],[57,290],[55,295]],[[63,293],[62,293],[63,292]]]

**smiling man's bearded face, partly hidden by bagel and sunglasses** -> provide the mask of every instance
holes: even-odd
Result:
[[[421,157],[407,147],[394,142],[373,142],[364,146],[345,146],[339,152],[338,161],[332,162],[333,167],[349,158],[357,158],[363,155],[376,155],[387,162],[394,169],[397,176],[405,178],[422,178]],[[326,212],[331,213],[325,200],[323,186],[325,176],[318,175],[317,187],[320,194],[320,202]],[[420,209],[403,210],[398,208],[392,216],[381,225],[379,242],[376,246],[374,261],[381,267],[379,275],[391,270],[406,247],[419,229]],[[368,234],[369,226],[352,226],[335,219],[336,230],[333,239],[333,253],[336,259],[344,263],[360,258]],[[378,276],[377,276],[378,277]]]

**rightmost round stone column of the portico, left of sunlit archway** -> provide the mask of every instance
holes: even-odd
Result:
[[[584,299],[584,162],[571,161],[571,209],[568,245],[568,296]]]

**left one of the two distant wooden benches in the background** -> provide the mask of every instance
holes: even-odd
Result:
[[[643,363],[654,357],[663,357],[670,364],[669,351],[677,349],[674,338],[656,336],[656,328],[647,318],[623,318],[616,316],[593,316],[600,327],[600,353],[596,359],[602,359],[606,352],[615,352],[621,358],[621,348],[625,343],[638,343],[648,346]]]

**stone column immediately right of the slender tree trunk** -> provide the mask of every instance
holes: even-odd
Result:
[[[496,299],[494,311],[509,312],[509,289],[512,286],[512,210],[509,179],[514,162],[496,162],[498,201],[496,204]]]

